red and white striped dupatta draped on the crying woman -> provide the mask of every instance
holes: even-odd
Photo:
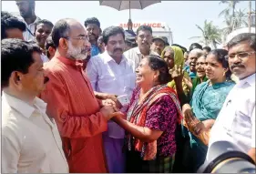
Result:
[[[176,92],[167,85],[157,86],[151,88],[147,93],[146,97],[142,100],[141,104],[138,104],[138,100],[128,109],[127,119],[129,122],[144,127],[147,120],[148,109],[155,104],[155,102],[164,95],[169,95],[172,101],[175,103],[178,110],[178,122],[182,120],[182,111],[179,104],[179,99]],[[141,158],[144,160],[155,159],[157,155],[157,140],[147,143],[143,142],[138,138],[134,138],[128,135],[128,150],[134,147],[136,151],[141,152]]]

